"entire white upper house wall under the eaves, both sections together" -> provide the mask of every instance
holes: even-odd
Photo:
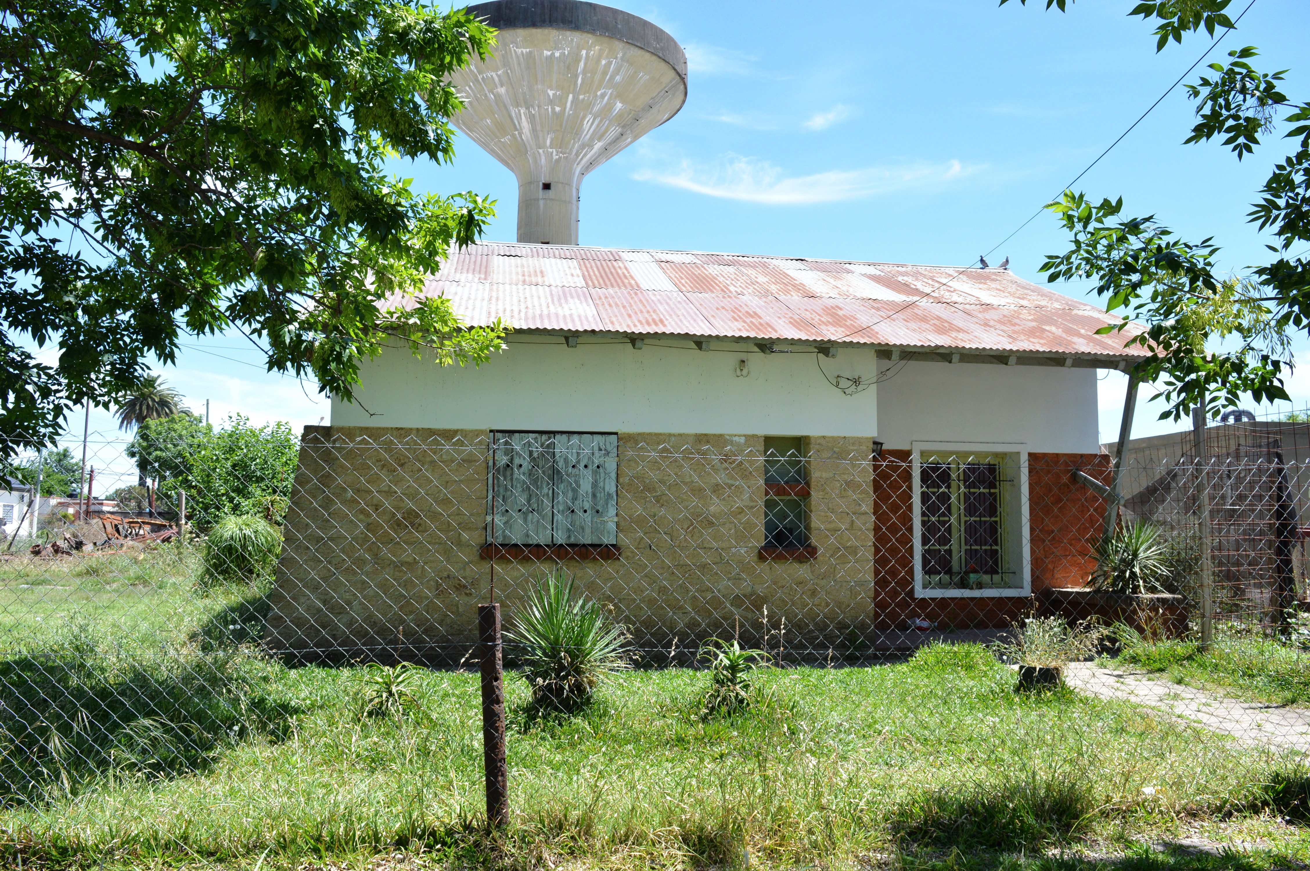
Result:
[[[1096,371],[904,363],[855,396],[831,386],[814,354],[634,350],[622,339],[515,337],[481,368],[439,368],[390,350],[363,364],[360,405],[333,399],[331,422],[362,427],[718,432],[878,436],[888,448],[916,440],[1023,443],[1028,451],[1094,453]],[[736,375],[739,360],[749,373]],[[820,358],[828,376],[871,377],[893,364],[872,351]],[[884,372],[884,377],[886,377]],[[363,406],[363,407],[362,407]],[[364,411],[373,411],[371,417]]]

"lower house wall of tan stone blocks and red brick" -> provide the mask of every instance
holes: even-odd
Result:
[[[817,555],[760,559],[762,448],[758,436],[621,435],[620,558],[496,559],[507,623],[532,582],[557,565],[612,608],[655,663],[688,661],[711,637],[760,646],[765,630],[770,648],[841,651],[876,646],[879,633],[916,616],[1001,626],[1027,601],[913,597],[909,465],[870,465],[869,439],[808,440]],[[1086,541],[1102,508],[1069,482],[1069,469],[1098,462],[1030,457],[1035,591],[1086,578]],[[469,655],[493,575],[479,553],[486,473],[486,431],[308,427],[267,644],[307,660]]]

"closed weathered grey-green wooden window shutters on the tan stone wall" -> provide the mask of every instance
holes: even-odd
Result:
[[[496,545],[614,545],[618,436],[494,432],[487,541]]]

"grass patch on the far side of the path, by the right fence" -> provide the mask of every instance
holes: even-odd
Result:
[[[1131,643],[1116,658],[1179,684],[1272,705],[1310,702],[1310,651],[1251,631],[1218,630],[1209,650],[1195,640]]]

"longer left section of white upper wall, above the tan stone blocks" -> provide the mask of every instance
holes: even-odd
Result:
[[[663,343],[659,343],[663,344]],[[720,432],[872,436],[878,390],[845,396],[814,354],[758,354],[753,344],[688,342],[634,350],[624,339],[514,337],[479,368],[438,368],[390,350],[362,367],[359,405],[333,398],[331,422],[360,427]],[[740,360],[748,375],[738,376]],[[823,360],[833,375],[874,377],[872,351],[842,348]]]

